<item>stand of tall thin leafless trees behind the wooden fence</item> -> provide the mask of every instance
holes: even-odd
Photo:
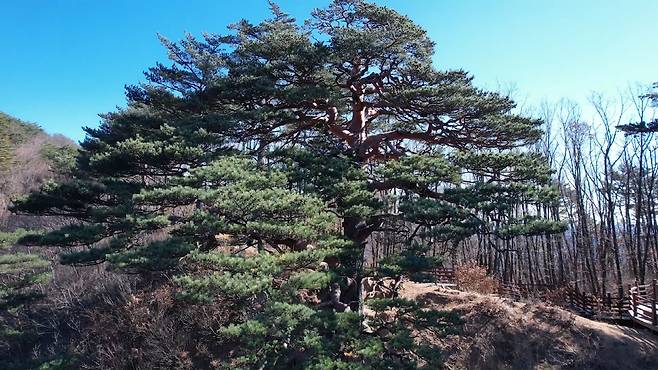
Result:
[[[568,99],[522,107],[543,121],[533,150],[548,159],[559,197],[549,205],[516,199],[511,206],[518,215],[561,220],[565,231],[477,236],[451,251],[455,260],[478,261],[505,281],[572,282],[602,295],[654,278],[655,96],[651,86],[632,85],[616,96],[593,93],[587,107]]]

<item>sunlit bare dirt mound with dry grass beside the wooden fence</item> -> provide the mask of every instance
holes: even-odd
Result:
[[[401,296],[454,310],[462,332],[438,340],[449,369],[658,369],[658,335],[544,303],[406,282]]]

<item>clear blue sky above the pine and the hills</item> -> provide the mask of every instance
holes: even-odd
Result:
[[[266,0],[0,0],[0,111],[73,139],[124,105],[123,86],[165,53],[156,33],[224,32]],[[538,102],[658,80],[657,0],[390,0],[437,43],[435,64],[515,83]],[[328,0],[280,0],[298,19]]]

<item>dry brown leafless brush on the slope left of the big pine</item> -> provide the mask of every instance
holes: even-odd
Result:
[[[105,266],[53,269],[46,297],[21,316],[35,335],[20,346],[3,345],[0,338],[0,364],[32,368],[62,357],[75,359],[70,368],[80,369],[207,369],[226,357],[229,348],[217,330],[234,312],[225,303],[177,300],[170,279],[160,274],[118,274]]]

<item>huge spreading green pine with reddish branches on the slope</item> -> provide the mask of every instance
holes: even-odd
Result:
[[[431,366],[407,323],[441,333],[451,315],[375,300],[394,320],[361,331],[369,240],[398,237],[381,273],[399,277],[437,262],[428,243],[555,232],[511,213],[550,194],[527,149],[540,122],[435,69],[426,32],[391,9],[335,0],[303,26],[272,14],[163,39],[171,63],[86,129],[75,179],[15,207],[78,222],[23,242],[70,248],[66,264],[174,274],[181,299],[222,300],[235,366]]]

